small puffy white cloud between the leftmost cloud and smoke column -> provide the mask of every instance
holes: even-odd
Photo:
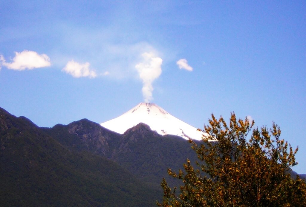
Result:
[[[80,64],[78,62],[71,60],[66,64],[66,66],[62,69],[62,71],[72,75],[75,78],[80,78],[80,77],[95,78],[97,74],[95,73],[95,71],[90,69],[89,66],[90,64],[88,62]]]

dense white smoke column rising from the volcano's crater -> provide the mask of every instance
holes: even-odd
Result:
[[[135,68],[143,82],[142,94],[144,96],[144,101],[150,102],[153,100],[152,91],[154,88],[152,83],[162,74],[162,59],[156,57],[154,53],[143,53],[141,56],[144,60],[138,63]]]

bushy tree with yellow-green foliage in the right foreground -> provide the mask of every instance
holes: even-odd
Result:
[[[199,161],[193,167],[187,159],[184,171],[170,176],[181,179],[180,192],[162,181],[164,196],[159,206],[306,206],[305,181],[291,178],[297,165],[294,151],[280,139],[281,130],[273,122],[252,130],[251,123],[231,113],[230,125],[212,114],[204,126],[203,143],[192,148]],[[248,137],[248,133],[252,135]],[[215,140],[215,141],[211,141]]]

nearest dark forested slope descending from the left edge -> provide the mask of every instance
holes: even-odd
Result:
[[[0,108],[1,206],[148,206],[160,196],[113,161],[70,151]]]

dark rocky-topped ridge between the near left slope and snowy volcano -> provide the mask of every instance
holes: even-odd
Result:
[[[161,190],[162,177],[167,177],[170,184],[178,184],[174,179],[171,182],[168,168],[182,168],[181,163],[187,158],[196,160],[196,154],[187,140],[177,136],[161,136],[143,123],[123,135],[87,119],[44,130],[66,147],[88,150],[116,161],[157,191]]]

